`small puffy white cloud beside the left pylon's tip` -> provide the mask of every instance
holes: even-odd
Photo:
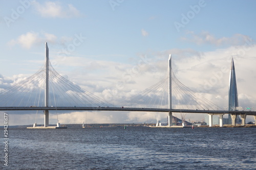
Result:
[[[10,46],[19,44],[24,48],[31,48],[33,45],[44,44],[45,42],[55,43],[57,37],[54,34],[49,33],[35,33],[35,32],[27,32],[26,34],[22,34],[18,36],[16,39],[12,39],[8,42]]]

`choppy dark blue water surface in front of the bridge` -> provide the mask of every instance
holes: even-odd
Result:
[[[9,138],[8,169],[256,168],[256,128],[9,129]]]

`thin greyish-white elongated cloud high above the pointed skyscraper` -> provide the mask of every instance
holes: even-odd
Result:
[[[197,44],[212,44],[216,46],[221,45],[243,45],[247,41],[250,41],[250,37],[242,34],[234,34],[232,37],[217,38],[209,32],[203,31],[199,34],[194,32],[187,32],[186,37],[181,38],[184,41],[189,41]]]

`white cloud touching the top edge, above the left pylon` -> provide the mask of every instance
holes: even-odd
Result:
[[[63,6],[60,2],[45,2],[45,4],[39,4],[38,2],[32,3],[37,12],[42,17],[50,18],[72,18],[81,16],[80,12],[71,4]]]

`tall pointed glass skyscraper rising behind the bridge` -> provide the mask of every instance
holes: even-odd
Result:
[[[228,110],[236,110],[238,107],[238,90],[236,81],[236,71],[234,71],[234,61],[231,60],[230,75],[229,75],[229,89],[228,89]],[[228,123],[232,124],[231,115],[228,115]]]

